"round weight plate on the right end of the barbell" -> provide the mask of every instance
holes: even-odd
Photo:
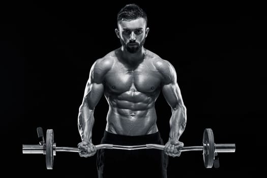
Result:
[[[214,136],[212,129],[205,129],[203,133],[203,160],[205,168],[212,168],[214,162]]]

